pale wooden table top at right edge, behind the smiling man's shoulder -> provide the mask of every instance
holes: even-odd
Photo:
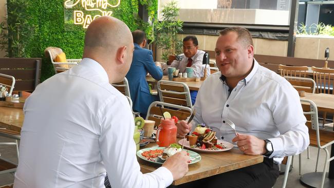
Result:
[[[318,110],[334,113],[334,95],[325,93],[305,93],[301,99],[311,100],[316,103]]]

